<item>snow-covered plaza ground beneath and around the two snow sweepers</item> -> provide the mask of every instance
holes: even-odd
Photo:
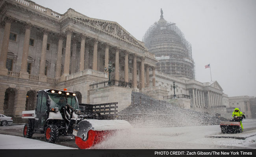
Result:
[[[243,125],[245,130],[242,133],[232,134],[232,137],[246,137],[245,140],[211,138],[212,135],[221,135],[219,125],[173,128],[134,127],[131,130],[117,132],[91,149],[255,149],[256,121],[246,119],[243,120]],[[77,148],[71,137],[62,137],[56,144],[51,144],[44,142],[43,135],[40,134],[34,134],[32,139],[26,139],[22,137],[22,131],[23,125],[0,127],[0,149]]]

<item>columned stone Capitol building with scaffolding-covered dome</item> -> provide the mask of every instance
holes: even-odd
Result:
[[[213,116],[230,119],[238,107],[256,118],[255,97],[228,97],[216,80],[195,80],[191,44],[163,11],[143,41],[117,22],[71,8],[60,14],[30,0],[0,0],[0,20],[0,113],[14,122],[35,109],[37,91],[63,88],[79,103],[118,102],[118,111],[140,92]]]

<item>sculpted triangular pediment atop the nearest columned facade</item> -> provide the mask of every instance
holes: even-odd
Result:
[[[141,41],[134,38],[128,31],[126,31],[117,22],[100,20],[100,19],[95,19],[95,18],[81,18],[81,17],[75,17],[75,16],[72,16],[72,18],[75,18],[76,20],[79,20],[80,22],[83,22],[92,27],[95,27],[96,29],[99,29],[100,31],[104,31],[105,33],[113,35],[119,39],[125,40],[126,42],[129,42],[129,43],[139,46],[143,49],[146,49],[142,45]]]

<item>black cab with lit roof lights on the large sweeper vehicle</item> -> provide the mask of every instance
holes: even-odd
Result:
[[[37,105],[35,109],[35,132],[43,133],[47,119],[54,120],[54,117],[49,117],[52,108],[61,110],[61,108],[67,104],[72,106],[75,110],[79,109],[75,93],[56,89],[38,91]]]

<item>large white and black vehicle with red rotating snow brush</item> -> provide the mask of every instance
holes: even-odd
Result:
[[[35,110],[22,111],[22,119],[28,119],[23,136],[32,138],[33,133],[41,133],[46,142],[55,142],[59,136],[72,136],[80,149],[86,149],[104,141],[117,130],[132,127],[126,120],[116,120],[115,115],[93,112],[90,104],[86,107],[91,110],[79,110],[73,92],[40,90]]]

